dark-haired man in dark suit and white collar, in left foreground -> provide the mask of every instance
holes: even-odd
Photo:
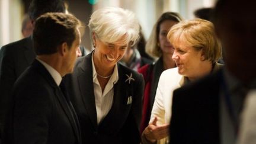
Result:
[[[80,143],[75,110],[60,82],[73,72],[81,43],[73,15],[41,15],[33,31],[36,60],[17,79],[4,125],[5,143]],[[60,86],[60,87],[59,87]]]

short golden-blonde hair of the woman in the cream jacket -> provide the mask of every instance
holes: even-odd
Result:
[[[169,30],[167,39],[174,47],[177,41],[182,40],[189,47],[203,50],[206,60],[212,63],[217,62],[222,56],[220,41],[216,37],[214,26],[207,20],[196,18],[181,21]]]

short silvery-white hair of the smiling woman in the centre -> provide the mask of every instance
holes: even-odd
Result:
[[[124,37],[124,44],[133,44],[139,38],[139,21],[132,11],[118,7],[105,7],[93,12],[89,30],[104,43],[114,43]]]

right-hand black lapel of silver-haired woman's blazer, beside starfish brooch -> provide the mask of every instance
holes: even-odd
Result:
[[[104,133],[116,133],[121,129],[126,118],[129,114],[132,104],[127,104],[127,100],[130,96],[133,96],[132,82],[126,82],[127,75],[130,73],[124,72],[122,66],[117,64],[119,72],[119,80],[114,85],[114,98],[113,105],[108,112],[107,116],[99,125],[99,130]]]

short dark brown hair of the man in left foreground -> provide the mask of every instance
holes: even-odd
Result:
[[[49,55],[57,52],[62,43],[72,46],[76,38],[76,28],[80,21],[71,14],[60,12],[41,15],[33,31],[34,49],[37,55]]]

